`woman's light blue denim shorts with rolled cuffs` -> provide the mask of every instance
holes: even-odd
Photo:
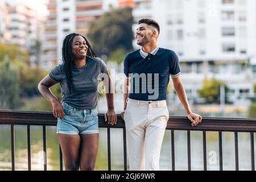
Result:
[[[84,135],[98,133],[98,111],[94,109],[76,109],[62,103],[64,119],[57,118],[57,134]]]

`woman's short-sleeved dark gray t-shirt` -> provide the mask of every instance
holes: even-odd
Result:
[[[98,85],[101,73],[108,73],[104,61],[98,57],[86,56],[86,65],[78,68],[72,66],[73,90],[68,93],[67,77],[65,75],[64,64],[56,65],[49,77],[60,82],[62,101],[76,109],[94,109],[98,101]]]

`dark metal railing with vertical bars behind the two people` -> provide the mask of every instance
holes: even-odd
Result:
[[[111,154],[110,154],[110,132],[112,128],[119,128],[123,130],[123,164],[124,170],[127,170],[127,154],[126,154],[126,132],[125,123],[118,115],[117,125],[108,125],[105,122],[104,114],[98,114],[99,127],[107,129],[108,135],[108,169],[111,170]],[[27,152],[28,152],[28,170],[31,170],[31,148],[30,148],[30,126],[43,126],[43,151],[44,151],[44,170],[47,170],[47,150],[46,150],[46,126],[56,126],[56,118],[51,112],[47,111],[22,111],[22,110],[0,110],[0,125],[11,126],[11,168],[15,170],[14,158],[14,126],[27,126]],[[222,132],[234,133],[234,150],[236,170],[239,170],[238,163],[238,133],[250,133],[250,149],[251,149],[251,170],[255,171],[254,167],[254,133],[256,131],[256,119],[249,118],[209,118],[204,117],[196,127],[192,127],[187,117],[170,117],[167,123],[167,130],[171,130],[171,154],[172,154],[172,170],[175,170],[175,130],[187,131],[187,158],[188,170],[191,171],[191,131],[203,132],[203,161],[204,170],[207,170],[207,131],[218,132],[218,148],[219,148],[219,169],[223,170],[223,155],[222,155]],[[62,153],[60,149],[60,170],[63,170]]]

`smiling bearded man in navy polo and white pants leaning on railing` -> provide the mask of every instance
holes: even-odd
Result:
[[[180,79],[179,59],[174,51],[159,48],[159,24],[141,19],[136,31],[141,49],[125,57],[124,107],[130,170],[159,170],[160,150],[169,118],[167,86],[172,77],[175,91],[192,126],[202,117],[192,113]]]

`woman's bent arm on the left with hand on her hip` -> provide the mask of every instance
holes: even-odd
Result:
[[[52,104],[52,113],[54,117],[64,119],[64,110],[60,101],[57,100],[57,97],[53,95],[51,90],[49,89],[51,86],[57,84],[57,81],[52,80],[49,75],[43,78],[38,84],[39,92]]]

